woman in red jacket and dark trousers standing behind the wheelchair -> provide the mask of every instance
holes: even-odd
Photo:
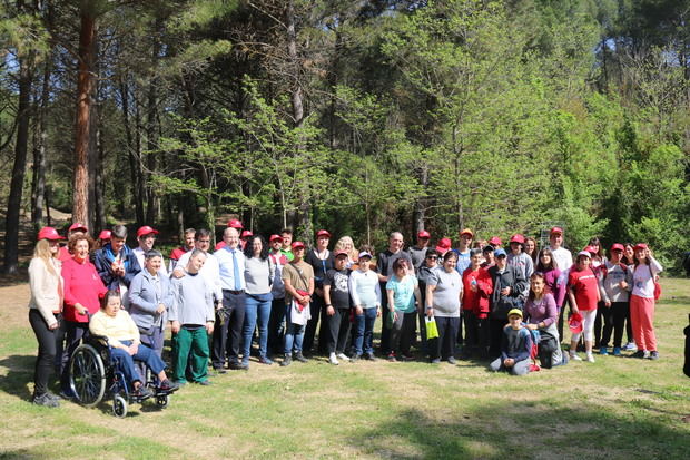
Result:
[[[107,288],[98,276],[96,266],[89,261],[91,239],[86,235],[72,237],[69,252],[72,257],[62,264],[65,281],[63,327],[67,348],[62,352],[60,385],[66,397],[73,397],[69,388],[69,356],[79,346],[85,332],[89,330],[89,315],[100,310],[100,296]]]

